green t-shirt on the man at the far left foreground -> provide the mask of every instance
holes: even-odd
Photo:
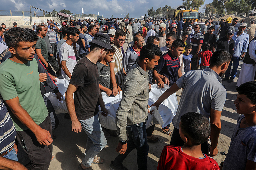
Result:
[[[20,64],[7,59],[1,63],[0,93],[4,100],[10,100],[18,96],[20,105],[28,112],[36,124],[42,123],[48,115],[40,91],[36,60]],[[12,113],[10,115],[17,131],[28,129]]]

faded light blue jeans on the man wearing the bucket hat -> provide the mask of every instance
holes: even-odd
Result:
[[[82,161],[84,166],[91,166],[94,157],[107,145],[107,140],[101,129],[99,114],[85,120],[81,120],[81,125],[86,133],[86,151]]]

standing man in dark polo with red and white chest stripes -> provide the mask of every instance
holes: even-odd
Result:
[[[191,69],[197,70],[197,56],[201,50],[203,41],[204,41],[204,35],[200,32],[200,24],[195,25],[195,33],[191,37],[190,44],[192,45],[192,51],[190,54],[193,55],[192,63],[191,63]]]

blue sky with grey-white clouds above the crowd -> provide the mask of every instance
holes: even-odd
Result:
[[[205,4],[211,2],[212,0],[205,0]],[[82,14],[82,8],[84,8],[84,14],[98,14],[100,12],[100,15],[103,15],[105,18],[110,18],[112,15],[114,18],[123,18],[126,16],[125,7],[127,7],[129,17],[140,18],[140,16],[144,16],[145,14],[148,15],[147,11],[152,6],[156,10],[165,5],[177,8],[181,4],[181,0],[9,0],[1,3],[0,10],[30,11],[29,5],[31,5],[49,12],[52,12],[53,9],[55,11],[66,9],[73,14]],[[200,12],[203,11],[203,6],[199,9]],[[36,11],[35,9],[31,10]]]

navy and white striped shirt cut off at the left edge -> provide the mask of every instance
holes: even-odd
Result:
[[[16,130],[6,106],[0,100],[0,154],[10,150],[16,139]]]

